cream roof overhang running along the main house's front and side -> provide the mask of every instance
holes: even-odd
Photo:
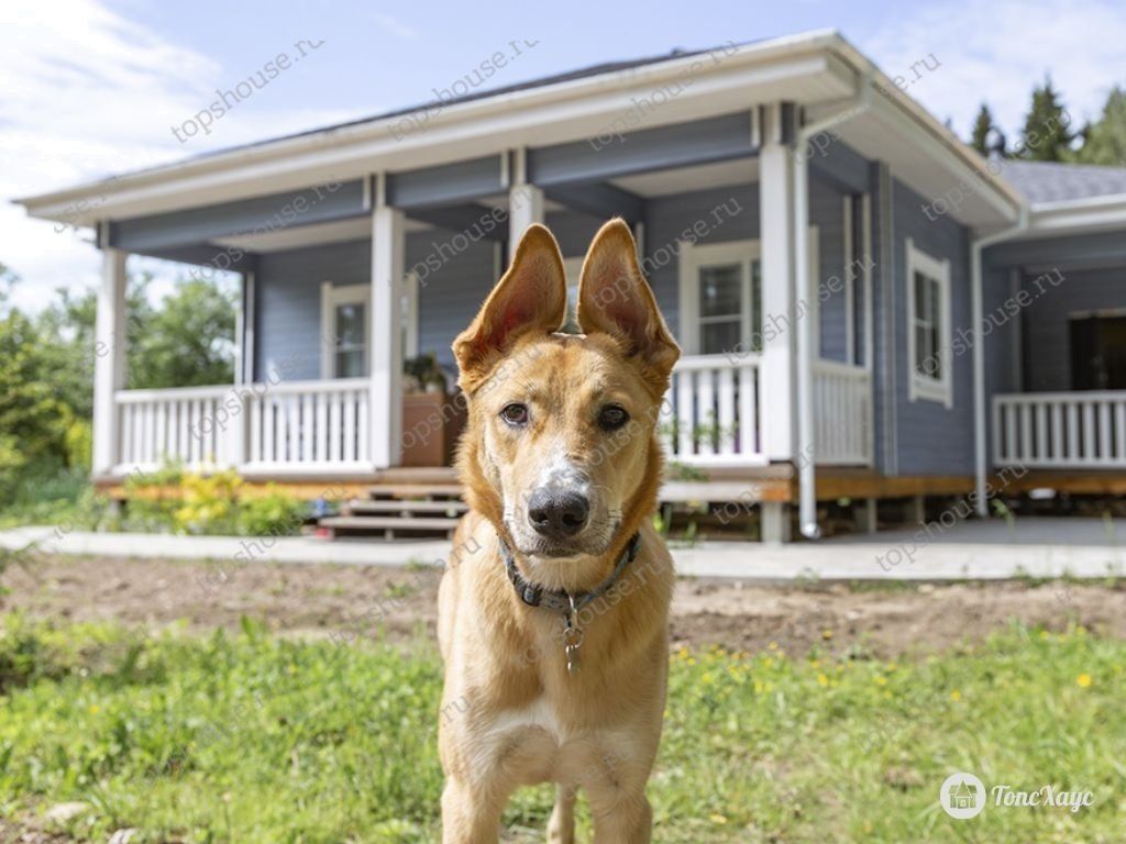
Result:
[[[894,174],[923,196],[941,197],[960,183],[974,185],[951,212],[968,225],[1003,227],[1016,219],[1020,197],[1002,180],[980,177],[985,161],[833,32],[483,97],[445,108],[413,132],[402,132],[404,116],[396,115],[17,201],[34,217],[93,225],[597,137],[634,107],[635,98],[658,91],[665,96],[646,114],[645,128],[779,100],[816,115],[855,100],[869,81],[884,93],[838,127],[846,143],[867,158],[888,161]]]

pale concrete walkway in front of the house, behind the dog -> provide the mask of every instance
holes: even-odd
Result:
[[[235,562],[345,565],[440,565],[446,541],[337,540],[313,537],[253,539],[151,533],[63,532],[19,528],[0,531],[0,547],[37,544],[41,551],[102,557],[231,559]],[[884,531],[820,542],[672,544],[685,576],[748,581],[946,581],[1126,576],[1126,526],[1098,519],[1021,519],[959,523],[948,529]]]

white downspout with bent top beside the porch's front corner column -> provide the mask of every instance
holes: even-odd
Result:
[[[856,117],[872,102],[872,75],[865,75],[852,101],[828,117],[797,131],[794,162],[794,287],[795,296],[810,289],[810,167],[806,144],[828,128]],[[817,490],[813,436],[813,321],[797,321],[797,454],[798,526],[806,539],[817,539]]]

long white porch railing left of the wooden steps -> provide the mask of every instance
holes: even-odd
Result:
[[[369,396],[366,378],[120,390],[115,472],[367,470]]]

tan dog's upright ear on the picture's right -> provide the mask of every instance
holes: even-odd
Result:
[[[637,266],[637,244],[625,221],[611,219],[590,244],[579,282],[578,321],[587,334],[617,339],[646,379],[664,390],[680,347]]]

